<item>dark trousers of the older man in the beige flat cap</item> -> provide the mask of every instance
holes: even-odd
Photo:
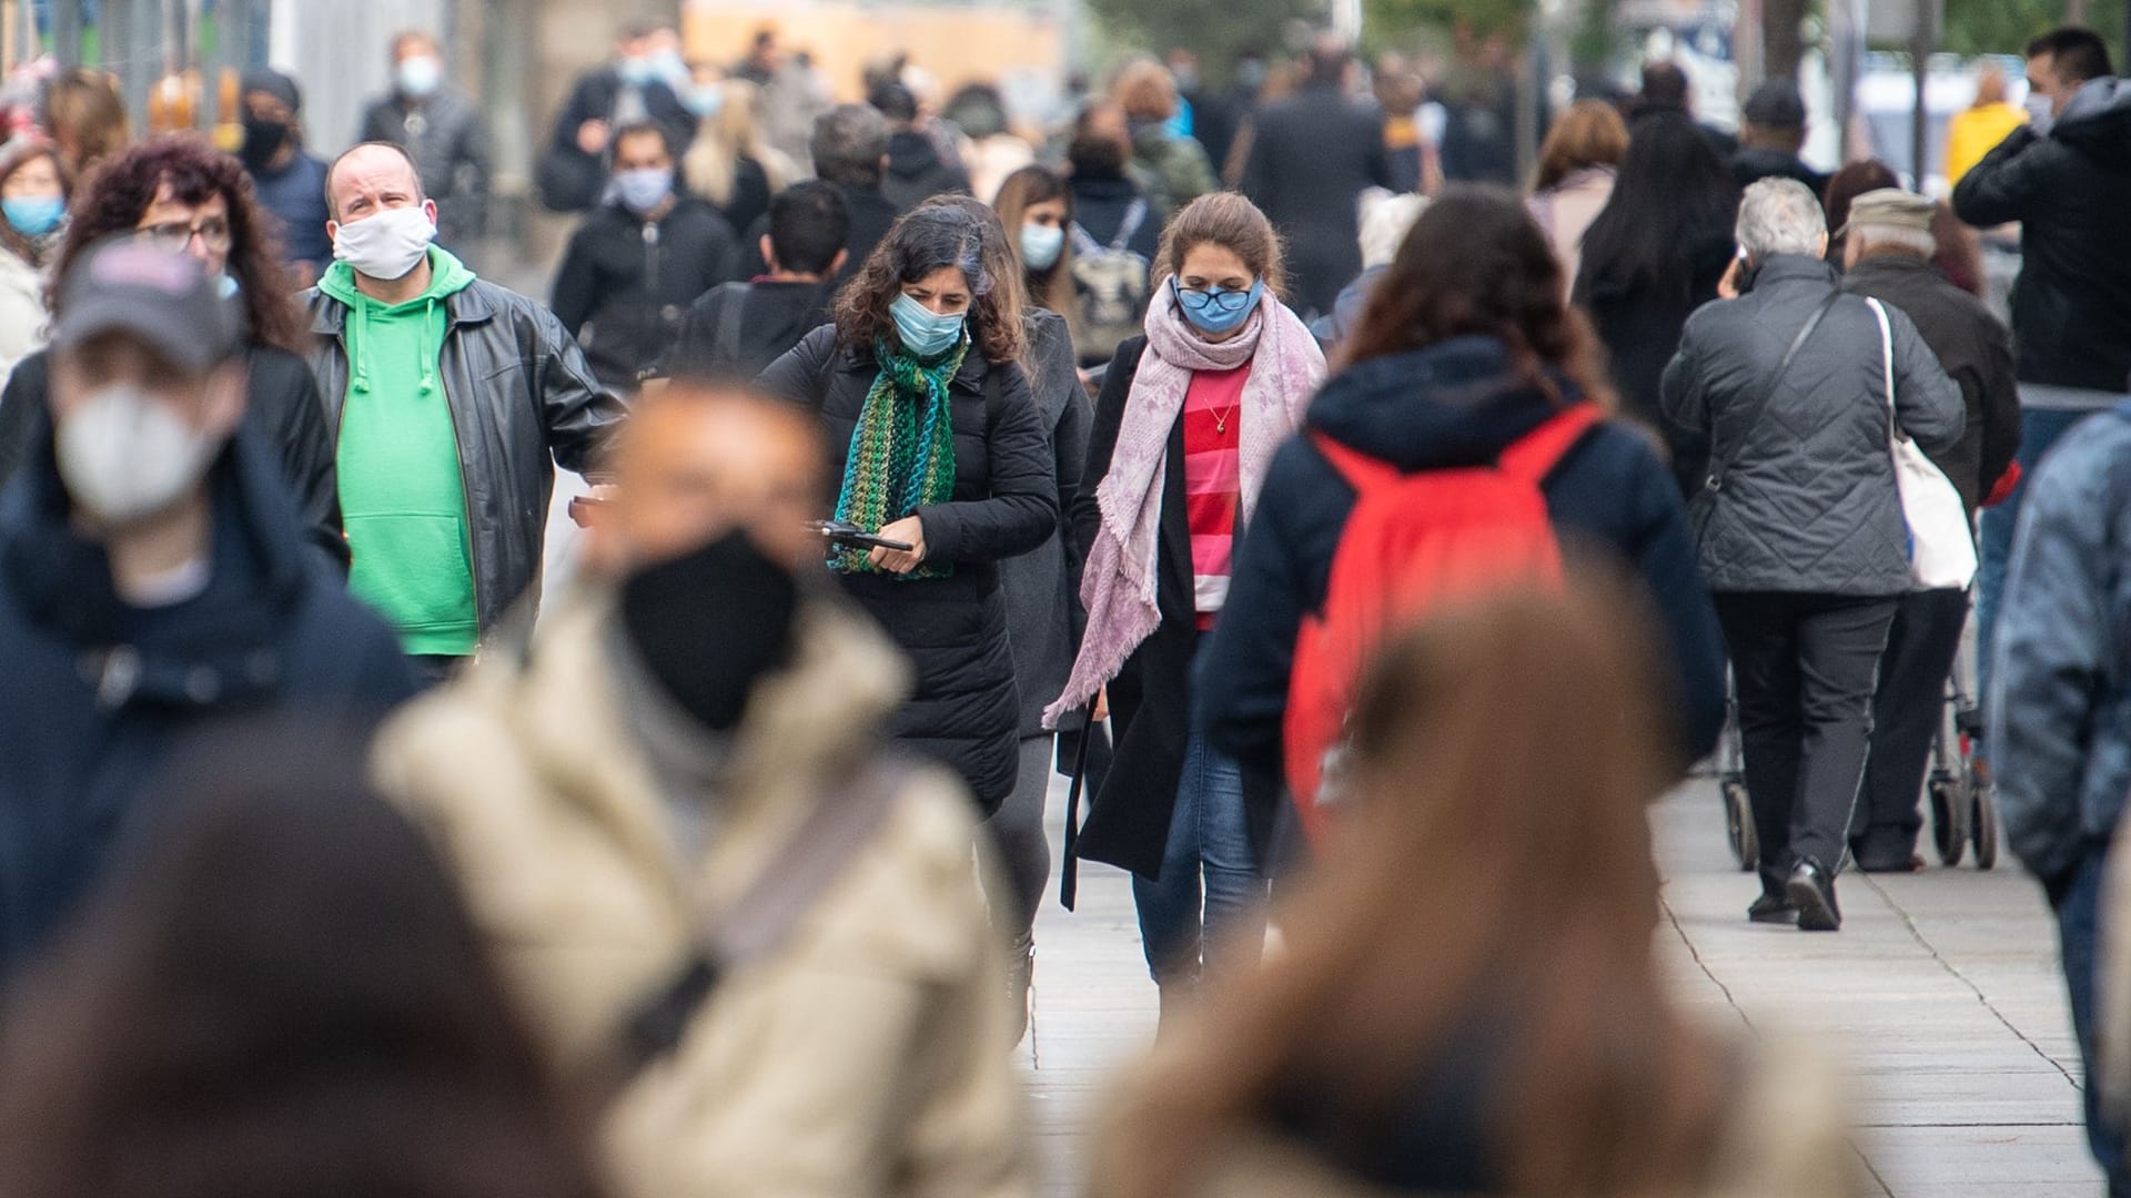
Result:
[[[1850,821],[1850,853],[1860,865],[1899,868],[1916,853],[1916,833],[1924,827],[1916,804],[1931,765],[1931,742],[1943,723],[1946,676],[1954,669],[1967,622],[1967,590],[1901,597],[1880,657],[1865,795]]]

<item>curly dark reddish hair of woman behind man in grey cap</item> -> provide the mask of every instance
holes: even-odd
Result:
[[[164,185],[183,205],[222,196],[230,207],[228,269],[245,305],[251,341],[300,354],[303,320],[290,301],[294,288],[281,269],[275,220],[258,205],[243,164],[198,134],[149,139],[96,168],[70,209],[66,243],[51,273],[51,313],[60,313],[58,279],[66,277],[75,256],[104,237],[136,228]]]

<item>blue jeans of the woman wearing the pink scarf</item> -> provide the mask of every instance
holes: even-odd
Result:
[[[1198,733],[1185,746],[1161,878],[1134,876],[1132,902],[1157,983],[1195,981],[1208,946],[1217,970],[1257,964],[1266,940],[1266,872],[1251,851],[1242,767]]]

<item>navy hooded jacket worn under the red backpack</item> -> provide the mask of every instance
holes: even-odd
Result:
[[[1556,388],[1577,394],[1566,377]],[[1413,473],[1494,463],[1558,411],[1500,341],[1460,337],[1347,367],[1311,405],[1308,428]],[[1671,473],[1643,433],[1609,422],[1568,450],[1541,492],[1564,548],[1609,554],[1643,582],[1671,650],[1679,761],[1703,757],[1724,725],[1724,637]],[[1283,770],[1302,616],[1323,608],[1353,503],[1353,488],[1315,443],[1296,437],[1281,448],[1202,657],[1200,727],[1270,776]]]

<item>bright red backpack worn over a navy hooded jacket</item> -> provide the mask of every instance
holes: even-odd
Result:
[[[1319,612],[1302,618],[1287,682],[1287,787],[1302,827],[1323,831],[1353,689],[1377,646],[1447,603],[1517,582],[1560,584],[1562,546],[1541,484],[1600,422],[1579,403],[1502,450],[1492,467],[1398,467],[1311,433],[1355,490]]]

